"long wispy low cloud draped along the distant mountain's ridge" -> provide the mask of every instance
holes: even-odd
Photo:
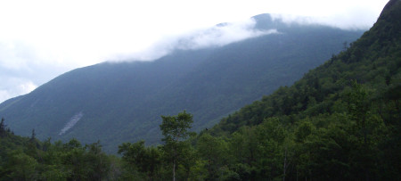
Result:
[[[196,50],[219,47],[252,37],[279,33],[277,29],[254,29],[256,21],[247,19],[221,23],[209,29],[196,29],[179,36],[167,36],[140,53],[119,53],[109,62],[153,61],[175,50]]]

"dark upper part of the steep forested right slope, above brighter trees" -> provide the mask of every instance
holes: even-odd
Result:
[[[396,7],[393,9],[397,9]],[[372,88],[375,89],[374,91],[379,91],[377,94],[398,90],[401,64],[401,21],[396,17],[400,17],[400,14],[395,10],[383,11],[372,29],[352,43],[347,51],[333,55],[328,62],[315,70],[310,70],[293,86],[281,87],[261,101],[245,106],[241,111],[224,119],[220,126],[229,130],[231,128],[223,125],[241,121],[235,126],[236,128],[233,128],[236,130],[241,125],[256,125],[264,118],[299,114],[307,109],[310,109],[307,112],[308,116],[325,111],[332,112],[331,106],[340,98],[340,92],[350,86],[350,80],[369,86],[374,85]],[[283,99],[287,101],[285,103],[279,101]],[[311,99],[314,106],[309,105]]]

